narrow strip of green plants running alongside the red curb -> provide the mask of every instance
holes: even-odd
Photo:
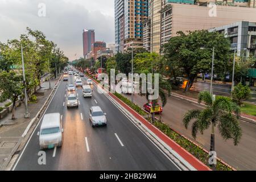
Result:
[[[97,82],[98,81],[96,78],[93,76],[89,75],[86,73],[87,76],[90,78],[94,79]],[[142,115],[145,117],[148,115],[146,111],[144,111],[141,107],[139,107],[136,104],[133,104],[128,98],[122,96],[119,93],[113,93],[114,96],[118,97],[120,100],[125,102],[128,106],[130,106],[133,110],[135,110],[138,114]],[[150,118],[147,118],[148,122]],[[207,165],[209,168],[214,169],[212,166],[209,165],[208,159],[209,159],[209,154],[208,151],[205,150],[203,147],[199,146],[198,144],[192,142],[192,140],[185,138],[183,135],[177,133],[175,130],[171,129],[170,126],[166,125],[166,123],[163,123],[161,121],[157,121],[153,123],[155,127],[157,127],[160,131],[162,131],[164,134],[166,134],[169,138],[174,140],[177,144],[179,144],[181,147],[183,147],[185,150],[187,150],[190,154],[195,156],[195,158],[199,159],[202,163]],[[229,166],[225,162],[223,162],[221,159],[217,158],[217,165],[215,168],[217,171],[233,171],[236,170],[233,167]]]

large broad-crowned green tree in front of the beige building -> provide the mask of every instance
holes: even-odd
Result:
[[[163,52],[170,67],[177,67],[188,78],[185,92],[191,88],[198,73],[210,72],[212,51],[201,47],[215,47],[214,74],[225,71],[227,61],[231,60],[230,43],[223,34],[207,30],[188,32],[187,35],[180,31],[177,34],[164,44]]]

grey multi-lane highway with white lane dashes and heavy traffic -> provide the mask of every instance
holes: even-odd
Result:
[[[77,88],[79,107],[67,109],[67,85],[61,80],[46,113],[60,113],[63,146],[44,150],[46,165],[39,164],[39,130],[41,121],[15,163],[14,170],[180,170],[163,154],[112,102],[93,89],[92,98],[83,98]],[[82,77],[85,82],[86,77]],[[95,127],[89,123],[89,109],[100,106],[106,113],[108,126]]]

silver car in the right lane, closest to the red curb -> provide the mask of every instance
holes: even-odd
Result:
[[[89,120],[92,127],[107,125],[106,113],[103,113],[100,106],[90,107]]]

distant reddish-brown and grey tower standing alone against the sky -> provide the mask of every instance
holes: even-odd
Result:
[[[84,52],[84,58],[91,51],[92,44],[95,42],[95,33],[94,30],[86,30],[82,31],[82,46]]]

